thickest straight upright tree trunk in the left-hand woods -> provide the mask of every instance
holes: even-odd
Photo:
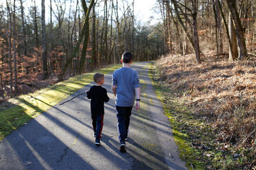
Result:
[[[42,59],[43,59],[43,71],[44,79],[48,78],[48,67],[47,67],[47,52],[46,52],[46,36],[45,36],[45,0],[42,0]]]

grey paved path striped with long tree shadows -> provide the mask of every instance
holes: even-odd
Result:
[[[90,101],[82,95],[52,107],[3,139],[0,169],[186,169],[179,159],[170,122],[154,94],[147,64],[132,64],[140,74],[141,109],[132,110],[127,153],[119,151],[109,73],[103,87],[111,99],[105,104],[101,146],[94,145]]]

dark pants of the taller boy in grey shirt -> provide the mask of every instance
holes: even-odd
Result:
[[[116,117],[118,122],[117,127],[119,132],[118,138],[121,143],[125,141],[125,138],[127,138],[131,113],[132,113],[132,106],[130,107],[116,106]]]

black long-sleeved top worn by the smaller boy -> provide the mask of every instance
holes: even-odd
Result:
[[[104,114],[104,102],[109,101],[107,90],[101,86],[93,85],[88,92],[86,92],[88,99],[91,100],[92,115]]]

